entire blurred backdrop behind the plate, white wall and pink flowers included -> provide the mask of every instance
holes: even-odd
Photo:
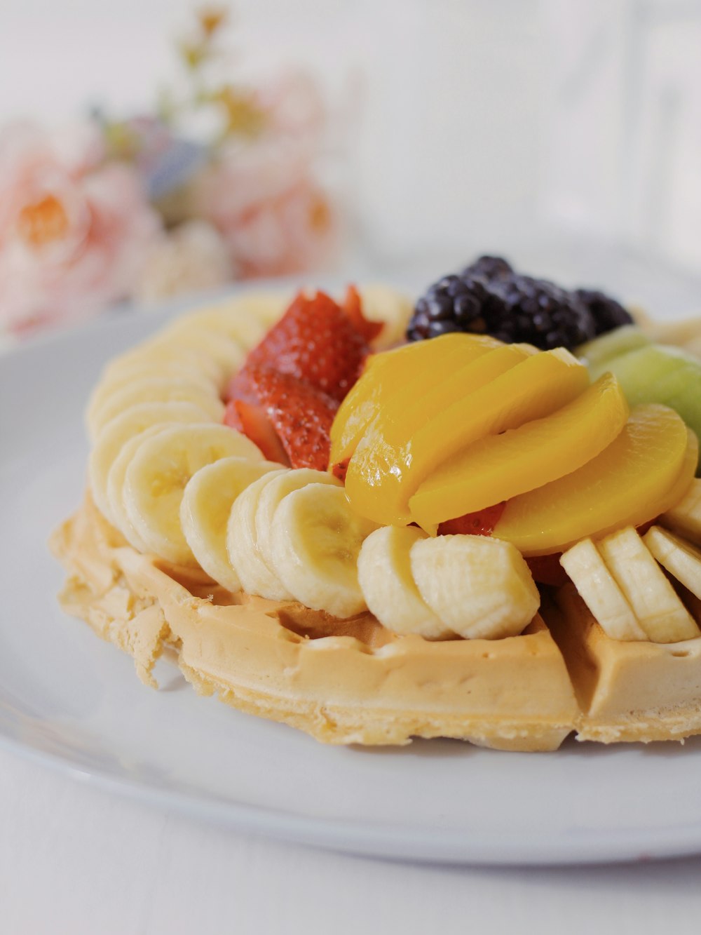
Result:
[[[701,305],[696,0],[3,0],[0,125],[6,332],[480,252]]]

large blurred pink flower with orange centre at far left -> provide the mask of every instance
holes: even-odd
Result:
[[[97,127],[0,132],[0,329],[85,317],[132,292],[160,229],[134,169]]]

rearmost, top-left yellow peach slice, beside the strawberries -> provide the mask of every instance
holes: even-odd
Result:
[[[329,466],[350,457],[367,426],[392,396],[403,396],[404,405],[412,406],[448,374],[501,346],[501,341],[487,335],[456,333],[373,354],[336,412]]]

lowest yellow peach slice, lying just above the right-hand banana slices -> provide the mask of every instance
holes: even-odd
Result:
[[[509,500],[494,536],[524,555],[546,555],[642,525],[680,500],[697,458],[698,441],[674,410],[636,406],[618,438],[582,468]]]

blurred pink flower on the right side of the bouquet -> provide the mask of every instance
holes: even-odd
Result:
[[[265,129],[232,140],[193,186],[193,209],[221,232],[236,276],[314,269],[336,249],[336,213],[316,181],[324,109],[313,81],[288,74],[258,95]]]

